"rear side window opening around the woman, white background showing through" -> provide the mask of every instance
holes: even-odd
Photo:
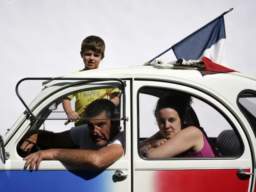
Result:
[[[171,89],[158,89],[156,87],[145,87],[138,93],[140,144],[148,141],[146,139],[159,132],[158,123],[154,116],[156,103],[160,97],[172,92],[191,96],[191,108],[185,115],[184,123],[203,128],[208,140],[212,146],[218,149],[222,157],[236,157],[242,153],[240,137],[235,127],[230,123],[229,118],[220,109],[197,95]],[[138,152],[140,153],[140,151]],[[140,155],[143,157],[142,154]]]

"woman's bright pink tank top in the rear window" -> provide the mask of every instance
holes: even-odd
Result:
[[[203,134],[203,133],[202,133]],[[177,155],[177,157],[215,157],[212,148],[210,147],[210,144],[208,143],[206,137],[203,134],[203,139],[204,139],[204,146],[203,148],[198,151],[197,153],[188,153],[188,152],[184,152],[180,155]]]

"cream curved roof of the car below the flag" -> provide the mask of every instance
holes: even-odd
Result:
[[[253,87],[256,87],[256,80],[254,78],[250,78],[246,75],[240,74],[239,72],[219,73],[217,71],[207,71],[194,67],[174,67],[169,69],[154,66],[102,68],[81,71],[63,76],[62,78],[117,78],[122,80],[141,79],[149,81],[175,82],[196,87],[204,92],[212,92],[213,95],[226,97],[228,100],[231,97],[233,100],[236,100],[236,96],[242,90],[253,89]],[[71,81],[65,79],[50,81],[44,85],[47,88],[47,91],[43,90],[41,94],[44,92],[44,95],[47,95],[49,92],[56,91],[60,85],[65,83],[70,84],[70,82],[74,82],[74,80]],[[236,86],[234,86],[234,84]],[[43,95],[41,95],[41,97],[43,97]]]

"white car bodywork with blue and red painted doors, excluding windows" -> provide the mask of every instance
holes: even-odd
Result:
[[[202,75],[197,69],[161,69],[153,66],[82,71],[63,78],[116,78],[125,82],[125,154],[106,169],[89,169],[58,160],[42,161],[38,171],[23,170],[25,161],[18,155],[18,141],[32,123],[25,111],[5,135],[5,150],[10,153],[6,164],[0,162],[0,188],[32,191],[254,191],[255,177],[238,178],[237,171],[255,173],[256,140],[250,123],[237,104],[243,90],[256,90],[256,80],[238,72]],[[80,89],[100,87],[102,82],[70,86],[79,80],[53,80],[44,84],[42,92],[28,106],[34,116],[52,102]],[[86,81],[85,81],[86,82]],[[105,81],[109,85],[119,85]],[[242,154],[235,158],[169,158],[146,159],[138,153],[139,143],[139,91],[143,87],[179,90],[195,95],[221,111],[236,128],[243,145]],[[65,87],[65,89],[63,89]],[[123,171],[128,176],[117,180],[114,172]],[[24,182],[22,177],[26,178]],[[184,184],[187,183],[187,185]]]

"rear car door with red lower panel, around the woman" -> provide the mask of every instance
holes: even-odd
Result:
[[[242,127],[240,112],[228,107],[228,101],[203,87],[182,85],[153,80],[135,79],[133,83],[133,190],[146,192],[161,191],[251,191],[252,176],[243,176],[239,172],[254,173],[252,145],[248,134]],[[152,89],[146,95],[145,89]],[[205,91],[207,90],[207,91]],[[159,95],[156,93],[178,91],[194,97],[193,110],[198,116],[200,126],[212,139],[219,151],[224,154],[219,158],[145,158],[139,152],[141,138],[147,138],[158,131],[154,108]],[[198,104],[199,103],[199,104]],[[150,108],[149,105],[152,107]],[[150,115],[151,113],[151,115]],[[240,119],[240,120],[239,120]],[[225,149],[222,135],[231,132],[239,150]],[[215,135],[214,135],[215,134]],[[226,137],[226,135],[225,135]],[[229,136],[228,136],[229,137]],[[230,143],[229,143],[230,144]],[[233,144],[232,144],[233,145]],[[237,152],[237,153],[236,153]],[[242,173],[244,173],[242,172]],[[246,173],[245,173],[246,174]]]

